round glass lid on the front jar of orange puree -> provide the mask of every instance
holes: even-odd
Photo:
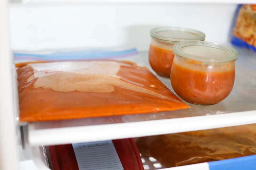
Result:
[[[176,43],[173,52],[181,57],[203,62],[227,62],[238,57],[238,52],[232,47],[204,41]]]

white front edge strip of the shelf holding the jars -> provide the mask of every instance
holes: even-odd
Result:
[[[35,124],[29,123],[28,135],[29,144],[39,146],[151,136],[253,123],[256,123],[256,110],[140,122],[45,129],[36,129]]]

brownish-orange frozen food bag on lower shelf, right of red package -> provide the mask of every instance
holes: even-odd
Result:
[[[141,137],[136,144],[166,167],[237,158],[256,154],[256,124]]]

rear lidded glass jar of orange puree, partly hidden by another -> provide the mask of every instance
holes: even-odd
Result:
[[[170,77],[172,61],[174,58],[173,44],[182,41],[204,40],[203,32],[179,28],[157,27],[150,30],[152,37],[149,47],[149,63],[152,69],[160,76]]]

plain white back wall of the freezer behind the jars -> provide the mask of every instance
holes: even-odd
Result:
[[[147,50],[149,30],[181,26],[203,31],[206,41],[227,42],[236,4],[55,3],[10,6],[11,48],[135,46]]]

